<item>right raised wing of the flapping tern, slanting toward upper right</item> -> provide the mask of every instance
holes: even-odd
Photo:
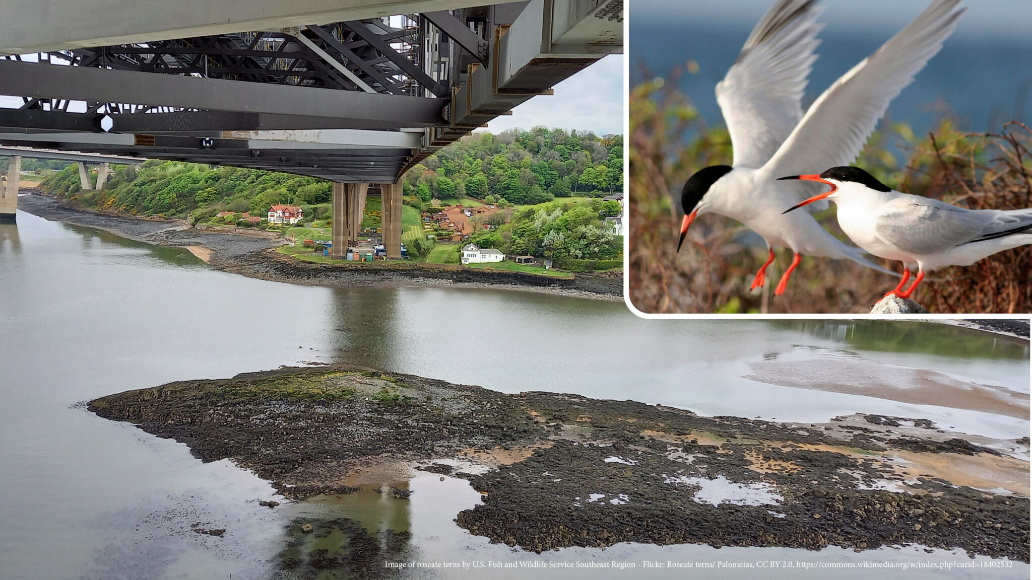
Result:
[[[765,170],[775,178],[849,165],[915,74],[942,47],[966,8],[935,0],[913,22],[835,82],[806,111]],[[802,192],[801,192],[802,193]]]

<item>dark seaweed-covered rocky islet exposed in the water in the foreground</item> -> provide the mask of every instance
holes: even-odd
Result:
[[[459,526],[562,547],[920,544],[1029,561],[1029,440],[877,415],[821,424],[632,400],[505,394],[348,365],[283,367],[100,397],[88,409],[229,458],[288,498],[421,470],[483,504]]]

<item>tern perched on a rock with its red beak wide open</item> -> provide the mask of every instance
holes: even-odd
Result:
[[[860,167],[832,167],[819,175],[792,175],[832,186],[785,213],[820,199],[838,205],[842,231],[869,254],[903,262],[903,280],[885,296],[909,298],[926,271],[969,266],[982,258],[1032,244],[1032,208],[966,210],[938,199],[900,193]],[[910,270],[917,278],[906,291]]]

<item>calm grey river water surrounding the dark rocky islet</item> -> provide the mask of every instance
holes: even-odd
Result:
[[[412,500],[402,503],[360,492],[346,503],[268,510],[257,500],[275,491],[254,475],[228,461],[201,463],[185,445],[100,419],[76,405],[127,389],[282,364],[344,360],[507,392],[577,392],[703,414],[825,421],[868,412],[931,418],[942,428],[990,437],[1019,438],[1029,430],[1027,396],[1023,410],[1008,413],[950,406],[953,389],[974,383],[1029,392],[1028,343],[974,330],[876,321],[659,322],[639,320],[622,303],[531,292],[293,286],[215,271],[179,249],[25,213],[18,219],[17,226],[0,225],[0,578],[5,580],[268,578],[286,541],[285,524],[298,515],[334,511],[370,526],[407,527],[424,560],[986,559],[917,547],[858,554],[838,548],[630,544],[528,555],[491,545],[452,522],[458,510],[479,501],[463,480],[417,477],[410,482]],[[785,380],[785,368],[771,361],[818,364],[821,380],[835,386],[826,389],[811,380],[810,388],[797,388]],[[894,394],[893,385],[916,380],[944,385],[943,394],[927,401]],[[197,522],[228,531],[225,538],[191,534]],[[869,573],[836,570],[831,576]],[[607,574],[643,572],[596,571]],[[680,574],[656,571],[648,577]],[[878,574],[944,576],[928,569]],[[509,577],[476,570],[419,576]],[[827,578],[830,572],[782,570],[770,577],[810,576]],[[1028,578],[1029,567],[1014,562],[1011,569],[955,570],[946,576]],[[719,577],[749,578],[755,572],[727,571]]]

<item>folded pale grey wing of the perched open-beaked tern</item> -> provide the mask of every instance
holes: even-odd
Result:
[[[934,254],[973,241],[1002,212],[971,211],[937,199],[902,195],[878,208],[874,233],[912,254]]]

